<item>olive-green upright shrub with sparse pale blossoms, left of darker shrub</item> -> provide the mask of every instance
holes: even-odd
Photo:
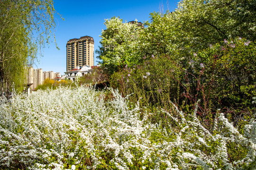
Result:
[[[139,66],[125,68],[111,76],[110,84],[130,99],[145,106],[168,108],[170,102],[179,100],[183,71],[180,64],[170,57],[144,60]]]

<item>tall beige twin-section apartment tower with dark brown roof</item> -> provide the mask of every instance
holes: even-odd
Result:
[[[94,40],[90,36],[70,39],[67,42],[67,71],[76,66],[93,66]]]

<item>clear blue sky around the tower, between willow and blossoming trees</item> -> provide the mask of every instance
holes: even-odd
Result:
[[[43,71],[66,71],[66,43],[73,38],[91,36],[94,39],[94,65],[98,62],[95,50],[100,46],[100,37],[104,26],[104,19],[120,17],[124,21],[139,22],[150,20],[150,13],[169,9],[173,11],[177,7],[176,0],[54,0],[56,11],[64,20],[55,15],[55,36],[60,50],[57,50],[54,42],[44,49],[44,56],[36,61],[34,68],[43,68]]]

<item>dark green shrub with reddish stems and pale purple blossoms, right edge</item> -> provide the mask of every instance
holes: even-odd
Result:
[[[238,38],[224,40],[194,53],[188,62],[183,95],[192,103],[202,99],[201,113],[221,109],[233,121],[251,117],[256,96],[256,46]],[[237,123],[237,122],[236,122]]]

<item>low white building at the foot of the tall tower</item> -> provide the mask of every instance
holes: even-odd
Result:
[[[77,77],[81,77],[91,73],[94,67],[97,67],[97,66],[91,66],[91,67],[88,65],[77,66],[76,68],[66,71],[64,73],[65,73],[66,79],[75,81]]]

